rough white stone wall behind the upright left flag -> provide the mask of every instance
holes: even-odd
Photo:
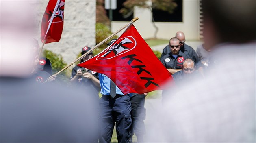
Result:
[[[41,20],[49,0],[35,0],[37,10],[37,33],[40,40]],[[69,64],[74,61],[84,46],[95,46],[96,0],[65,0],[64,27],[59,42],[45,44],[44,48],[61,54]]]

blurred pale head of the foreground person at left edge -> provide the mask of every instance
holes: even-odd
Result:
[[[31,38],[35,27],[28,0],[1,0],[0,76],[29,76],[35,55]]]

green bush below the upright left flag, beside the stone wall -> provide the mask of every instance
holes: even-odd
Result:
[[[67,63],[63,61],[63,57],[59,54],[53,53],[50,50],[44,50],[43,55],[51,61],[52,64],[52,74],[56,74],[58,71],[67,66]],[[57,80],[54,82],[61,83],[65,82],[69,84],[69,75],[67,74],[67,70],[62,71],[57,75]]]

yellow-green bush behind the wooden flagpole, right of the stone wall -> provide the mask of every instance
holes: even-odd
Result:
[[[108,26],[104,25],[103,23],[96,23],[96,44],[99,44],[100,42],[102,42],[104,39],[106,39],[111,34],[112,33],[111,33],[110,28]],[[118,37],[115,35],[111,39],[117,39],[117,38]],[[96,55],[96,54],[100,53],[102,50],[104,50],[107,47],[106,44],[108,42],[110,42],[110,40],[108,40],[107,42],[105,42],[104,44],[102,44],[101,46],[96,48],[93,51],[93,54]]]

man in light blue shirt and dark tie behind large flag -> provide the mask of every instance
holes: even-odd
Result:
[[[118,142],[128,143],[132,124],[129,94],[124,95],[104,74],[99,74],[99,80],[102,93],[99,109],[99,143],[110,143],[115,124]]]

